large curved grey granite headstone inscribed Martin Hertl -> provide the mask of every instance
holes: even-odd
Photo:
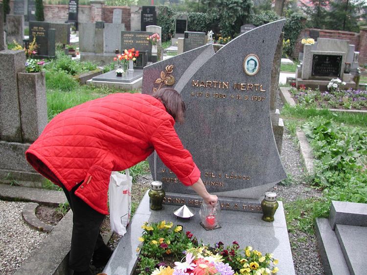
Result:
[[[170,84],[186,103],[185,124],[175,129],[206,189],[222,196],[221,202],[227,198],[234,208],[239,204],[233,200],[257,201],[256,206],[248,203],[245,209],[233,210],[259,212],[258,199],[287,177],[269,111],[272,65],[283,24],[280,20],[257,27],[216,53],[212,44],[206,44],[144,68],[143,92],[151,94]],[[256,61],[254,68],[247,65],[249,60]],[[168,65],[173,67],[167,70]],[[167,81],[155,84],[162,76]],[[184,194],[194,193],[156,153],[149,157],[149,165],[153,179],[172,192],[166,195],[168,202],[183,204]]]

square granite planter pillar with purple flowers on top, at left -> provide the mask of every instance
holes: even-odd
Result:
[[[34,142],[47,125],[45,76],[45,72],[17,75],[24,142]]]

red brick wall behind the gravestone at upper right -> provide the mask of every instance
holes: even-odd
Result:
[[[321,29],[303,29],[299,35],[298,43],[292,53],[293,57],[298,58],[298,53],[303,52],[301,40],[305,36],[310,37],[310,31],[320,32],[319,37],[321,38],[349,40],[349,44],[355,45],[355,50],[360,52],[359,63],[367,63],[367,42],[365,42],[367,38],[367,30],[363,27],[361,27],[361,31],[359,33]]]

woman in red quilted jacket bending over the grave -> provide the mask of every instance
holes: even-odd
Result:
[[[68,198],[73,212],[69,267],[74,275],[91,275],[91,259],[103,266],[112,254],[99,234],[108,214],[111,171],[130,168],[156,150],[185,186],[206,203],[217,202],[174,129],[184,114],[185,104],[171,88],[153,96],[112,94],[58,114],[25,152],[34,169]]]

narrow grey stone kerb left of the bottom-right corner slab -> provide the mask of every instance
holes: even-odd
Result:
[[[328,219],[317,218],[316,237],[325,275],[350,275],[338,238]]]

